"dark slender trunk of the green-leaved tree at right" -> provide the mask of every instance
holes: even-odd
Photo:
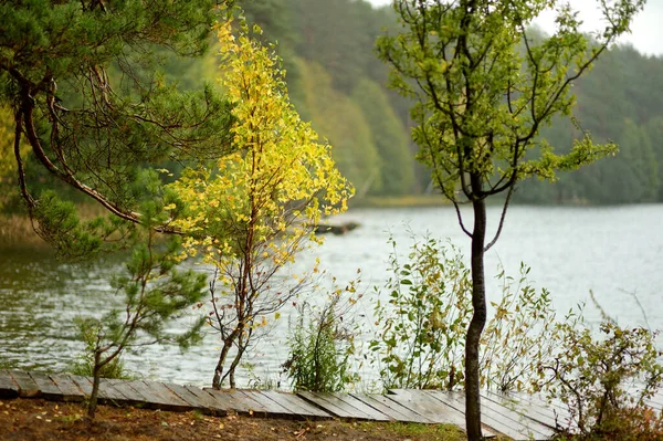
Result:
[[[472,190],[480,193],[481,180],[472,176]],[[486,203],[484,199],[472,202],[474,231],[472,232],[472,321],[465,340],[465,423],[467,440],[481,441],[481,396],[478,389],[478,343],[486,324],[486,285],[484,276],[484,243],[486,237]]]

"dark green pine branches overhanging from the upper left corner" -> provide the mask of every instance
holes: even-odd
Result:
[[[218,3],[0,4],[0,103],[11,109],[18,145],[30,146],[12,160],[21,196],[30,214],[40,218],[44,239],[59,246],[77,240],[76,233],[63,240],[78,231],[71,207],[54,203],[63,199],[63,186],[140,223],[140,199],[130,189],[140,169],[167,160],[200,161],[228,144],[228,103],[211,87],[182,93],[158,69],[167,53],[190,57],[206,51]],[[60,182],[49,186],[59,198],[39,196],[44,180]],[[50,216],[64,220],[65,231],[56,231],[59,219]],[[105,231],[88,228],[86,233],[96,237],[85,238],[91,242]]]

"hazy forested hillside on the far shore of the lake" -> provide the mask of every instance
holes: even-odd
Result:
[[[355,185],[357,202],[368,196],[434,192],[430,172],[414,159],[411,102],[387,87],[389,69],[377,59],[376,38],[397,33],[396,13],[361,0],[245,0],[250,22],[263,29],[287,71],[291,99],[304,120],[334,146],[340,171]],[[185,87],[218,76],[214,50],[191,64],[167,59],[165,72]],[[663,201],[663,57],[614,46],[575,86],[570,120],[556,120],[541,136],[565,153],[589,132],[612,140],[619,153],[550,185],[522,182],[515,200],[527,203],[631,203]],[[10,143],[12,117],[0,109],[0,207],[15,195]],[[173,166],[176,167],[176,166]],[[30,169],[30,168],[29,168]],[[39,172],[39,170],[38,170]],[[53,182],[43,177],[43,185]]]

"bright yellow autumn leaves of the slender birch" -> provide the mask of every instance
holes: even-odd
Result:
[[[217,25],[221,86],[232,102],[233,154],[215,169],[186,170],[172,187],[187,207],[175,222],[190,234],[188,253],[202,253],[228,274],[238,260],[252,265],[292,261],[315,240],[323,214],[346,209],[352,190],[292,106],[280,60],[242,27]],[[228,282],[228,281],[227,281]]]

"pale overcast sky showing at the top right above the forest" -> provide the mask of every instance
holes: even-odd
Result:
[[[391,3],[391,0],[367,0],[375,6]],[[597,0],[575,0],[573,8],[581,11],[586,31],[600,29],[600,12]],[[547,32],[554,30],[554,14],[545,14],[537,20]],[[631,34],[623,36],[620,42],[633,44],[640,52],[650,55],[663,55],[663,0],[648,0],[644,11],[640,12],[631,24]]]

